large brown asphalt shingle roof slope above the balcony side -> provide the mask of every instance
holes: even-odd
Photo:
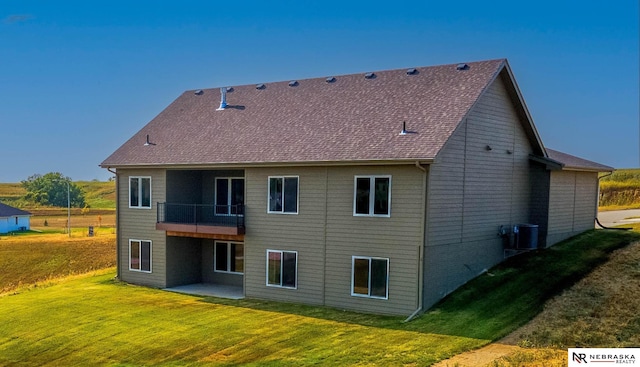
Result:
[[[506,60],[467,65],[186,91],[101,166],[433,159]]]

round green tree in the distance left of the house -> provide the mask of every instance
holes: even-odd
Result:
[[[68,188],[71,206],[85,206],[82,190],[69,177],[64,177],[59,172],[49,172],[44,176],[35,174],[20,183],[27,190],[25,199],[38,204],[66,207]]]

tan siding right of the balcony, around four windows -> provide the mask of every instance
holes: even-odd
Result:
[[[298,214],[268,214],[267,178],[290,175],[299,176]],[[392,176],[390,218],[353,215],[355,175]],[[423,176],[414,166],[247,169],[246,296],[365,312],[413,312]],[[268,249],[298,253],[297,289],[266,286]],[[351,296],[352,256],[389,258],[388,300]]]

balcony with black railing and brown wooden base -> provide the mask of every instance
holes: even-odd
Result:
[[[156,229],[170,236],[241,240],[244,205],[158,203]]]

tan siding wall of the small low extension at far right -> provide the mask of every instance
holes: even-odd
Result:
[[[593,172],[552,171],[547,245],[593,229],[598,176]]]

